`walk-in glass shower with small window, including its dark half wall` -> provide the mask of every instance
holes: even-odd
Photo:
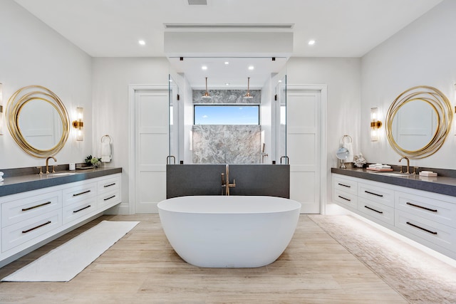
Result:
[[[169,59],[167,197],[289,196],[286,58]]]

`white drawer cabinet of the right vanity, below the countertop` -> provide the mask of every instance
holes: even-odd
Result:
[[[333,201],[336,204],[446,256],[456,258],[455,196],[341,174],[333,173],[332,176]],[[348,192],[353,192],[353,189],[358,191],[356,194],[343,192],[344,188],[350,189]],[[350,202],[357,201],[356,207],[347,203],[346,199],[350,199]]]

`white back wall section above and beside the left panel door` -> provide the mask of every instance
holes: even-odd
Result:
[[[110,135],[113,160],[105,167],[123,170],[123,203],[114,212],[128,214],[129,179],[135,174],[128,165],[128,85],[167,85],[168,73],[167,58],[93,58],[94,153],[100,153],[101,137]]]

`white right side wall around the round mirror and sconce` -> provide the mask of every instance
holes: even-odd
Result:
[[[416,85],[430,85],[455,104],[456,1],[445,0],[427,14],[403,28],[362,58],[361,150],[368,162],[398,164],[399,154],[385,137],[371,142],[370,108],[378,107],[382,121],[395,98]],[[456,169],[455,127],[434,155],[410,160],[410,165]]]

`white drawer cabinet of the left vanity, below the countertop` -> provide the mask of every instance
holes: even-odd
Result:
[[[1,196],[0,267],[119,204],[120,180],[116,173]]]

